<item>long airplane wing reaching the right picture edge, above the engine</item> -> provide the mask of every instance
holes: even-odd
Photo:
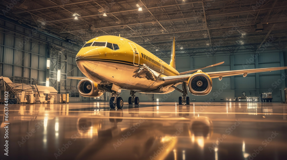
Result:
[[[259,68],[259,69],[243,69],[243,70],[236,70],[236,71],[220,71],[220,72],[206,72],[210,76],[210,78],[218,78],[218,77],[227,77],[233,75],[243,75],[244,77],[247,76],[249,73],[257,73],[257,72],[266,72],[266,71],[277,71],[287,69],[287,67],[273,67],[273,68]],[[186,82],[191,74],[189,75],[178,75],[178,76],[168,76],[168,77],[161,77],[162,80],[165,81],[167,84],[176,84],[178,82]]]

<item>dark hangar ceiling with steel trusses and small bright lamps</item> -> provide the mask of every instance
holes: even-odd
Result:
[[[11,4],[2,0],[1,10]],[[5,16],[80,46],[121,34],[170,57],[173,36],[177,56],[285,50],[286,7],[285,0],[20,0]]]

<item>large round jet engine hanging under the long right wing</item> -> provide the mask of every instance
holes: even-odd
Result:
[[[208,74],[198,70],[189,77],[187,86],[193,95],[207,95],[212,89],[212,80]]]

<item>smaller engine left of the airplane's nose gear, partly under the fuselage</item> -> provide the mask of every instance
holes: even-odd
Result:
[[[88,78],[82,79],[78,84],[79,94],[84,97],[100,97],[103,91],[98,89],[98,84]]]

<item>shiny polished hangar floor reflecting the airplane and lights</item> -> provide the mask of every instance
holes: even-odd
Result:
[[[259,102],[9,105],[8,121],[0,115],[1,159],[287,159],[286,109]]]

